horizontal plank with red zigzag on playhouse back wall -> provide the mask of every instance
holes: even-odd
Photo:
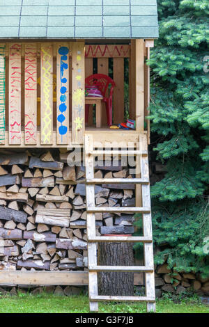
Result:
[[[86,45],[87,58],[129,58],[130,45]]]

